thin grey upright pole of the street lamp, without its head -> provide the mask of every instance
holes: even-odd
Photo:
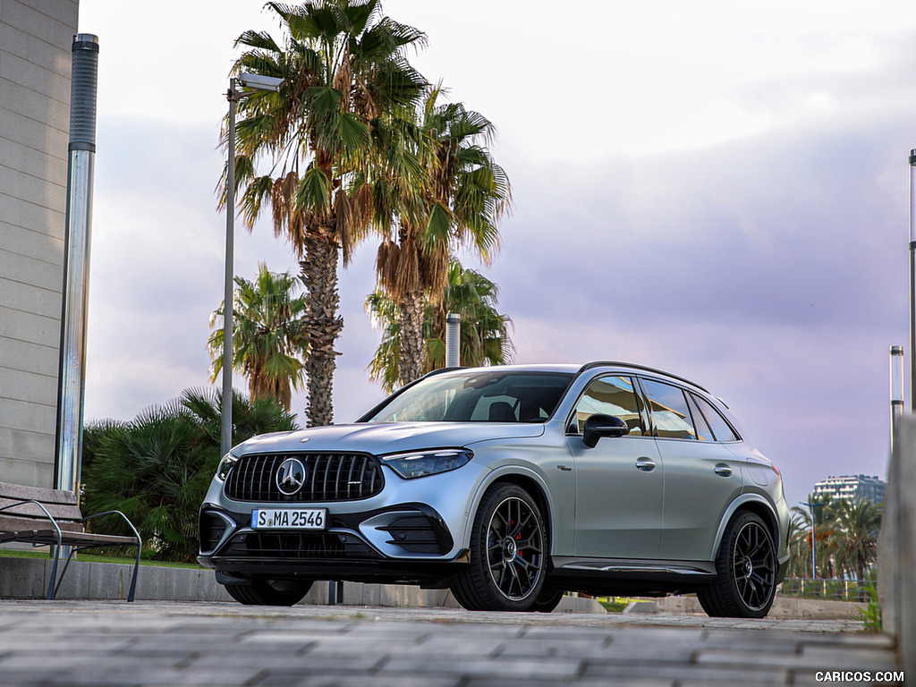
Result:
[[[223,429],[220,433],[220,450],[223,455],[232,448],[232,338],[233,338],[233,282],[235,240],[235,103],[239,93],[235,80],[229,80],[229,160],[226,173],[226,259],[223,292]]]

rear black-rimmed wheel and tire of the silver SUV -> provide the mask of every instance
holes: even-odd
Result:
[[[776,597],[776,547],[766,523],[747,510],[725,528],[715,582],[697,592],[706,615],[760,618]]]

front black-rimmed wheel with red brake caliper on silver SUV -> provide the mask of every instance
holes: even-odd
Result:
[[[477,509],[471,562],[452,593],[471,611],[527,611],[544,586],[546,551],[547,528],[534,499],[520,486],[494,485]]]

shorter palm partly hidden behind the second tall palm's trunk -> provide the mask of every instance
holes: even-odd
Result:
[[[511,362],[514,346],[508,329],[512,321],[496,311],[499,289],[474,269],[465,269],[457,260],[449,265],[448,283],[442,300],[425,302],[423,338],[425,356],[421,374],[445,364],[445,315],[457,312],[461,322],[461,361],[463,365],[504,365]],[[391,392],[400,374],[401,327],[398,304],[376,289],[365,301],[375,322],[383,328],[382,342],[369,365],[372,379]]]

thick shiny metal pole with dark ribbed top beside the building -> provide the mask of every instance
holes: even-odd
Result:
[[[86,310],[89,300],[98,68],[98,37],[92,34],[74,36],[54,474],[54,486],[74,494],[80,492],[82,472],[82,401],[86,377]]]

